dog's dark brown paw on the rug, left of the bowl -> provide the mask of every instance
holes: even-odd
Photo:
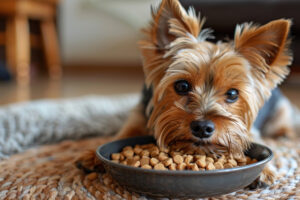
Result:
[[[75,165],[78,169],[85,173],[98,172],[103,173],[105,169],[101,161],[97,158],[94,150],[87,150],[82,153],[75,161]]]

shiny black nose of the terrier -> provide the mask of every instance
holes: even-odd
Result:
[[[190,126],[192,134],[199,138],[208,138],[215,131],[215,125],[210,120],[192,121]]]

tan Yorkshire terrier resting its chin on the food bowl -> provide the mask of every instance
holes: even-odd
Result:
[[[232,41],[212,43],[205,20],[178,0],[162,0],[152,17],[139,43],[142,99],[115,139],[153,135],[162,147],[242,154],[257,140],[255,129],[295,135],[291,105],[274,90],[292,62],[290,20],[237,25]],[[101,165],[95,150],[78,164],[90,170]],[[266,167],[261,180],[274,177]]]

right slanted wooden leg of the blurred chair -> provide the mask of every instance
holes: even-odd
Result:
[[[41,32],[46,62],[50,78],[61,77],[61,63],[57,32],[53,20],[44,20],[41,22]]]

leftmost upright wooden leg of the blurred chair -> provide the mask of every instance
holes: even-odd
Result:
[[[30,33],[25,16],[14,16],[7,26],[7,62],[16,74],[18,83],[30,81]]]

